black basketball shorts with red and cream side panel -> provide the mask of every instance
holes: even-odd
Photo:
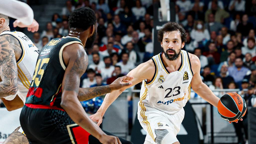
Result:
[[[100,144],[98,139],[78,126],[65,110],[57,107],[26,104],[20,114],[20,125],[30,144]],[[122,144],[131,144],[119,139]]]

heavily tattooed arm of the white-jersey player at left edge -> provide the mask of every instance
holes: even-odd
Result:
[[[15,50],[20,49],[20,45],[14,39],[10,35],[0,37],[0,97],[14,95],[18,91]]]

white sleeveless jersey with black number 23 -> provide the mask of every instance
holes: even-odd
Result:
[[[181,110],[190,99],[190,82],[193,77],[188,53],[181,50],[181,64],[177,71],[169,73],[163,59],[163,53],[155,55],[152,60],[155,65],[155,74],[151,81],[143,84],[138,102],[138,112],[163,111],[169,115]],[[148,107],[147,109],[145,106]]]

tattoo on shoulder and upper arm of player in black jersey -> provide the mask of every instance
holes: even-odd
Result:
[[[74,60],[74,62],[69,61],[69,65],[73,65],[72,68],[69,71],[67,71],[66,69],[66,79],[63,85],[63,90],[75,91],[78,93],[80,77],[84,74],[88,65],[88,61],[87,55],[82,49],[77,51],[75,57],[76,59]]]

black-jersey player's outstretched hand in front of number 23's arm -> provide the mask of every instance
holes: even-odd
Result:
[[[132,79],[133,77],[130,76],[122,76],[113,81],[113,83],[110,84],[110,86],[111,88],[113,88],[113,90],[118,90],[123,87],[132,85],[132,83],[129,83],[129,81],[131,81]]]

